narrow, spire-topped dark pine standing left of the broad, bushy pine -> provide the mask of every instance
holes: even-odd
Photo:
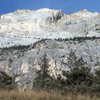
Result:
[[[44,54],[42,59],[41,69],[37,72],[37,77],[34,80],[33,88],[36,89],[48,89],[51,87],[53,78],[48,74],[48,61],[47,55]]]

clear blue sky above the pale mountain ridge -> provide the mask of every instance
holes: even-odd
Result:
[[[65,13],[73,13],[82,9],[100,12],[100,0],[0,0],[0,14],[17,9],[61,9]]]

